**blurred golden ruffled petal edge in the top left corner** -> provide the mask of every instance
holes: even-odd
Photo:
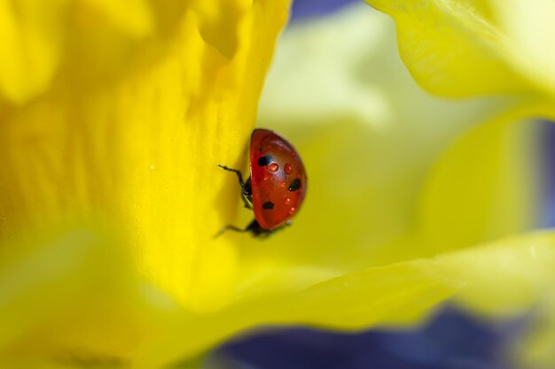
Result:
[[[2,103],[25,104],[66,78],[86,88],[87,80],[117,76],[154,20],[144,0],[0,2]]]

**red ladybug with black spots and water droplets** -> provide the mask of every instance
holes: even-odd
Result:
[[[254,211],[254,220],[241,229],[223,227],[217,235],[231,229],[267,237],[291,225],[307,193],[307,173],[293,145],[268,129],[254,129],[251,135],[250,177],[243,181],[241,172],[219,164],[237,174],[245,207]]]

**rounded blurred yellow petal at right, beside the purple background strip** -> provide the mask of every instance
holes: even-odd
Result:
[[[538,111],[544,111],[538,114]],[[540,223],[537,141],[550,112],[517,105],[473,127],[446,150],[426,179],[418,227],[434,252],[525,232]]]

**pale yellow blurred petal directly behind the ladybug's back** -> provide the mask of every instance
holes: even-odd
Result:
[[[262,97],[260,125],[294,139],[317,186],[309,189],[293,227],[264,242],[269,247],[249,242],[248,252],[241,254],[246,261],[241,270],[251,291],[274,284],[277,278],[270,277],[270,271],[280,268],[285,280],[291,281],[290,288],[300,288],[358,268],[453,249],[450,241],[438,242],[435,250],[419,242],[417,210],[429,171],[452,142],[496,119],[514,101],[455,102],[430,96],[410,78],[394,41],[391,20],[364,5],[304,27],[293,25],[285,32]],[[317,80],[318,76],[325,78]],[[314,88],[314,81],[327,88]],[[530,130],[528,136],[501,142],[500,150],[513,150],[514,156],[525,153],[535,127],[524,129]],[[496,133],[504,134],[502,124]],[[464,150],[472,150],[472,145],[461,143]],[[523,166],[511,166],[508,158],[503,163],[514,177],[530,173],[526,160]],[[485,162],[478,165],[488,171]],[[453,167],[454,173],[443,181],[459,181],[465,169]],[[456,192],[445,194],[450,197],[443,197],[442,204],[457,203]],[[505,195],[504,200],[512,198]],[[528,199],[528,188],[520,195],[522,201]],[[526,227],[529,219],[496,235]],[[293,277],[290,268],[312,272]],[[261,288],[254,288],[254,283]]]

